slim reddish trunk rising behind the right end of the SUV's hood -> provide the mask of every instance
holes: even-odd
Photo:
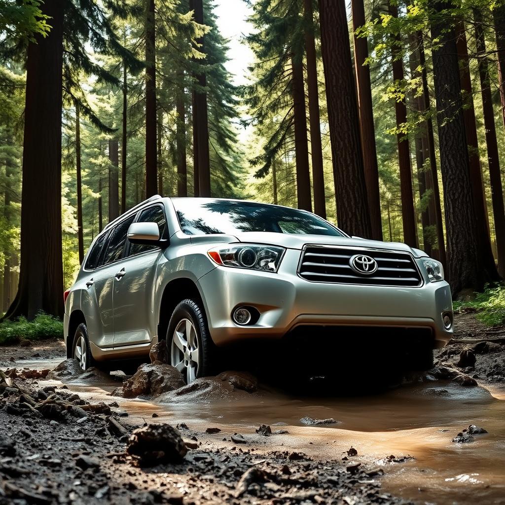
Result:
[[[398,17],[398,10],[395,5],[388,5],[389,14],[394,18]],[[392,49],[393,56],[393,80],[403,81],[403,60],[401,58],[401,39],[395,36],[395,44]],[[407,107],[405,99],[395,100],[396,127],[407,123]],[[411,247],[417,247],[417,225],[414,212],[414,198],[412,189],[411,155],[409,138],[403,133],[396,135],[398,143],[398,164],[400,169],[400,194],[401,194],[401,219],[403,224],[403,241]]]

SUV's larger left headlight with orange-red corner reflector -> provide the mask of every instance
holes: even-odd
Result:
[[[233,244],[216,247],[207,252],[218,265],[277,272],[284,254],[284,247],[275,245]]]

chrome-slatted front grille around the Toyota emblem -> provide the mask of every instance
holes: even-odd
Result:
[[[355,255],[366,255],[377,263],[372,274],[361,274],[350,266]],[[364,286],[421,286],[423,279],[412,255],[387,249],[358,249],[307,245],[298,275],[308,281]]]

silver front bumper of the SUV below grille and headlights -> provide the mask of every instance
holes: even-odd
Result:
[[[314,324],[430,328],[435,347],[451,338],[452,327],[446,330],[442,322],[442,314],[452,312],[445,281],[431,283],[426,277],[421,287],[309,282],[293,273],[299,257],[299,250],[287,249],[277,273],[217,267],[199,279],[217,345],[242,338],[281,338],[296,326]],[[233,309],[242,305],[260,312],[254,325],[232,321]]]

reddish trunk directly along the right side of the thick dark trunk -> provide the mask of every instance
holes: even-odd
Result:
[[[495,271],[493,252],[491,249],[491,239],[489,237],[489,220],[487,216],[487,204],[484,197],[484,186],[482,181],[482,170],[480,166],[479,142],[477,138],[477,125],[475,121],[475,110],[473,103],[472,81],[470,77],[467,38],[463,22],[456,25],[456,46],[458,58],[460,59],[460,79],[461,89],[464,92],[465,109],[463,118],[465,120],[465,134],[468,143],[468,156],[470,163],[470,181],[472,184],[472,197],[475,207],[475,219],[479,223],[477,228],[477,246],[479,256],[485,261],[486,268],[490,272]]]

